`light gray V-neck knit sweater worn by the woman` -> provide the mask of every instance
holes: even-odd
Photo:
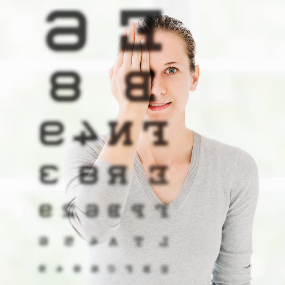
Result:
[[[189,172],[169,205],[152,190],[137,153],[132,173],[116,168],[125,183],[118,176],[110,184],[114,165],[97,159],[108,133],[67,143],[67,215],[88,241],[88,285],[250,284],[257,164],[241,148],[193,133]]]

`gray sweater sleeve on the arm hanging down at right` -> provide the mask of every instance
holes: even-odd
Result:
[[[251,284],[252,227],[258,193],[257,164],[249,153],[241,150],[211,285]]]

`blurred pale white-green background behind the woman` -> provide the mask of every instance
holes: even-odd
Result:
[[[16,1],[0,9],[1,73],[1,284],[84,284],[88,248],[63,217],[61,156],[66,143],[88,121],[108,131],[118,105],[108,69],[117,56],[122,9],[161,9],[181,20],[197,44],[200,80],[190,92],[186,125],[198,133],[250,153],[259,169],[259,200],[253,227],[252,285],[285,284],[285,18],[284,1]],[[78,10],[87,38],[78,51],[51,50],[50,29],[77,26],[75,20],[47,22],[54,10]],[[132,18],[131,20],[137,20]],[[63,42],[73,37],[64,37]],[[57,102],[50,96],[56,71],[80,75],[80,98]],[[64,142],[39,140],[44,121],[64,125]],[[54,164],[58,183],[44,185],[39,168]],[[39,216],[50,203],[52,216]],[[49,244],[39,245],[47,236]],[[65,236],[75,243],[64,245]],[[38,266],[46,265],[40,273]],[[61,265],[63,271],[56,272]],[[80,272],[73,266],[80,265]]]

